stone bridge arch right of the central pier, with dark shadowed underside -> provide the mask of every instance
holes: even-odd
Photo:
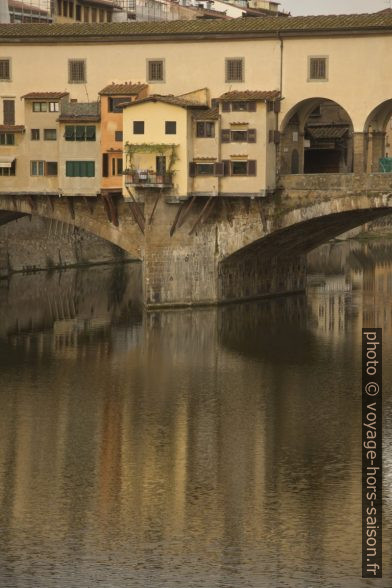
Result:
[[[228,254],[218,268],[223,301],[256,298],[304,289],[306,253],[330,239],[392,213],[390,194],[353,196],[297,203],[286,211],[271,210],[266,230],[252,243]]]

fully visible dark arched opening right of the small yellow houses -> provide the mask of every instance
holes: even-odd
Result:
[[[325,98],[299,102],[281,127],[280,173],[351,173],[353,124],[339,104]]]

